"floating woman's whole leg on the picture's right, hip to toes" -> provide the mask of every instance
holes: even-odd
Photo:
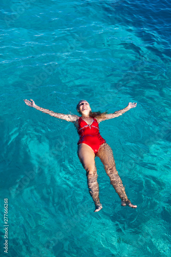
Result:
[[[97,156],[101,159],[104,168],[106,170],[107,175],[110,178],[110,183],[115,188],[115,191],[118,193],[121,198],[121,205],[128,205],[131,208],[137,208],[137,205],[132,205],[130,200],[128,199],[125,188],[123,186],[122,180],[118,174],[116,169],[115,159],[113,158],[113,152],[110,146],[107,143],[101,145],[101,148],[97,154]]]

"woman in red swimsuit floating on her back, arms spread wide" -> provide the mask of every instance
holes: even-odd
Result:
[[[128,103],[127,107],[113,114],[101,114],[92,113],[89,103],[85,100],[81,100],[77,105],[77,111],[81,114],[80,117],[78,115],[54,113],[49,109],[44,109],[40,106],[37,106],[32,99],[30,100],[31,102],[27,99],[24,100],[28,106],[34,107],[35,109],[43,113],[47,113],[55,118],[73,122],[75,127],[77,127],[78,133],[80,135],[80,140],[78,142],[78,156],[83,165],[83,168],[86,170],[89,193],[96,207],[94,212],[98,212],[102,209],[102,205],[99,199],[99,184],[97,181],[98,174],[96,163],[94,161],[96,156],[98,156],[104,164],[106,173],[110,178],[110,183],[121,198],[121,205],[137,208],[137,206],[132,205],[128,199],[125,193],[125,188],[122,184],[122,180],[116,169],[112,150],[99,133],[99,123],[101,121],[119,117],[129,109],[136,107],[137,103]]]

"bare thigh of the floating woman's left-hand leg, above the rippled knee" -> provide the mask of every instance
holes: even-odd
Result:
[[[79,144],[78,156],[86,172],[93,174],[96,171],[95,154],[90,146],[84,143]]]

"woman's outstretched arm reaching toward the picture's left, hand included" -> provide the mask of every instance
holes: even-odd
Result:
[[[50,111],[49,109],[45,109],[45,108],[42,108],[42,107],[36,105],[32,99],[30,99],[30,100],[31,100],[31,102],[27,99],[25,99],[24,101],[28,106],[33,107],[33,108],[41,111],[42,113],[47,113],[50,116],[53,116],[55,118],[63,119],[63,120],[70,121],[70,122],[75,122],[79,118],[77,115],[71,115],[71,114],[66,115],[66,114],[54,113],[53,111]]]

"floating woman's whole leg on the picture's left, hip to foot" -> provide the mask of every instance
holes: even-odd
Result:
[[[100,211],[102,209],[102,205],[99,199],[99,184],[97,181],[98,174],[96,163],[94,161],[94,152],[89,145],[82,143],[78,145],[78,156],[83,168],[86,170],[89,193],[96,207],[94,212]]]

